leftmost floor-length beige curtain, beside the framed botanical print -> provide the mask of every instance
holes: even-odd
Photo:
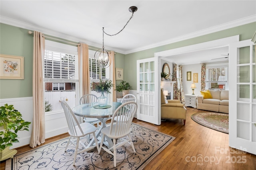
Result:
[[[43,81],[44,37],[42,33],[34,31],[33,49],[33,122],[30,147],[45,142],[44,122],[44,81]]]

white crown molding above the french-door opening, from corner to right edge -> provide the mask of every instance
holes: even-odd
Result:
[[[151,45],[148,45],[148,46],[144,46],[144,47],[136,48],[136,49],[133,49],[133,50],[130,50],[130,51],[126,51],[125,55],[130,54],[130,53],[135,53],[135,52],[138,52],[138,51],[152,49],[152,48],[155,48],[155,47],[160,47],[160,46],[163,46],[163,45],[168,45],[168,44],[171,44],[171,43],[176,43],[176,42],[179,42],[179,41],[199,37],[199,36],[202,36],[202,35],[207,35],[207,34],[210,34],[210,33],[222,31],[222,30],[237,27],[237,26],[240,26],[240,25],[245,25],[245,24],[252,23],[252,22],[256,22],[256,15],[248,16],[246,18],[242,18],[242,19],[239,19],[239,20],[234,20],[234,21],[224,23],[224,24],[221,24],[221,25],[217,25],[217,26],[214,26],[214,27],[202,29],[202,30],[196,31],[194,33],[189,33],[189,34],[182,35],[182,36],[179,36],[179,37],[176,37],[176,38],[173,38],[173,39],[168,39],[166,41],[161,41],[161,42],[154,43],[154,44],[151,44]]]

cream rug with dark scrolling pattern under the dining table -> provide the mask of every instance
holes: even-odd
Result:
[[[116,150],[117,161],[103,149],[98,154],[97,149],[80,153],[73,166],[74,145],[70,144],[64,152],[68,138],[54,143],[17,154],[13,159],[6,160],[6,170],[139,170],[143,169],[174,139],[157,131],[152,131],[132,123],[130,133],[136,153],[126,144]],[[84,139],[86,140],[86,139]]]

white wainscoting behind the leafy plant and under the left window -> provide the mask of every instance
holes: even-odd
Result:
[[[0,106],[4,104],[13,105],[21,114],[25,121],[32,122],[33,119],[33,98],[10,98],[1,99]],[[45,130],[46,139],[68,132],[68,125],[63,112],[45,115]],[[30,143],[30,137],[32,132],[32,123],[29,127],[29,131],[19,131],[18,140],[19,143],[13,143],[12,148],[22,147]]]

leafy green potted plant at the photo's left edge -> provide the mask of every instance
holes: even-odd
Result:
[[[17,150],[9,150],[12,143],[18,143],[18,131],[26,130],[31,122],[24,121],[22,114],[13,105],[5,104],[0,107],[0,159],[6,160],[14,156]]]

